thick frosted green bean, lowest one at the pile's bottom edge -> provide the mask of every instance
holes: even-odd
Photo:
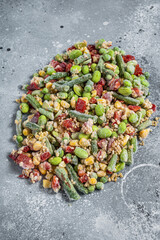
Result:
[[[79,194],[77,193],[77,191],[75,190],[74,186],[72,185],[71,181],[68,178],[68,174],[65,168],[59,168],[56,167],[55,169],[55,173],[57,175],[57,177],[60,178],[63,188],[66,192],[66,194],[68,195],[68,197],[71,200],[78,200],[80,199]]]

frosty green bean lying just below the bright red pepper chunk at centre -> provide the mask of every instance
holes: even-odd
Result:
[[[93,122],[96,123],[97,122],[97,116],[93,116],[93,115],[89,115],[89,114],[85,114],[85,113],[80,113],[76,110],[69,110],[68,114],[71,117],[75,117],[78,119],[78,121],[80,122],[86,122],[89,118],[93,119]]]

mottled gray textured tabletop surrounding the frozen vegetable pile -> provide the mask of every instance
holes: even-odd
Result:
[[[19,85],[78,40],[104,37],[135,55],[151,74],[150,99],[158,105],[159,13],[159,0],[0,1],[0,239],[160,239],[159,127],[139,148],[124,179],[78,202],[18,179],[19,168],[7,159],[15,147]]]

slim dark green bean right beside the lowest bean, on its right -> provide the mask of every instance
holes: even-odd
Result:
[[[83,186],[83,184],[78,180],[78,175],[77,175],[77,173],[74,171],[72,165],[68,163],[68,164],[66,165],[66,168],[67,168],[67,171],[68,171],[68,173],[69,173],[70,178],[71,178],[72,181],[74,182],[75,188],[76,188],[79,192],[82,192],[82,193],[84,193],[84,194],[87,194],[87,193],[88,193],[87,188],[85,188],[85,187]]]

